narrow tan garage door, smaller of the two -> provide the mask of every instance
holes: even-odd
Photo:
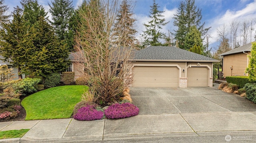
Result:
[[[207,67],[188,68],[187,78],[187,86],[208,86],[209,70]]]

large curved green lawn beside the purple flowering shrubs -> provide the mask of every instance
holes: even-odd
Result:
[[[70,118],[86,89],[82,85],[57,86],[24,98],[25,120]]]

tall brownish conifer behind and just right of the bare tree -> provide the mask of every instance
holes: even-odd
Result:
[[[136,41],[135,34],[138,32],[134,29],[133,13],[127,0],[123,0],[118,10],[116,23],[113,28],[113,35],[119,41],[121,46],[130,47]],[[121,42],[120,42],[121,41]]]

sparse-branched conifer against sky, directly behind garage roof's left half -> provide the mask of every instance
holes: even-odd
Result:
[[[143,24],[146,27],[146,31],[144,32],[143,37],[145,38],[145,41],[143,42],[143,47],[146,47],[148,45],[151,46],[162,46],[164,44],[161,43],[160,39],[165,38],[166,35],[162,32],[160,32],[159,29],[162,29],[161,26],[164,26],[168,24],[169,22],[165,22],[165,19],[161,19],[163,17],[161,14],[163,11],[158,10],[160,6],[156,4],[156,1],[154,0],[153,6],[150,6],[150,18],[151,21],[148,22],[148,24]]]

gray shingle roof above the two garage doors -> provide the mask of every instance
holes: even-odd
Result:
[[[216,59],[172,46],[150,46],[136,51],[132,61],[218,62]]]

